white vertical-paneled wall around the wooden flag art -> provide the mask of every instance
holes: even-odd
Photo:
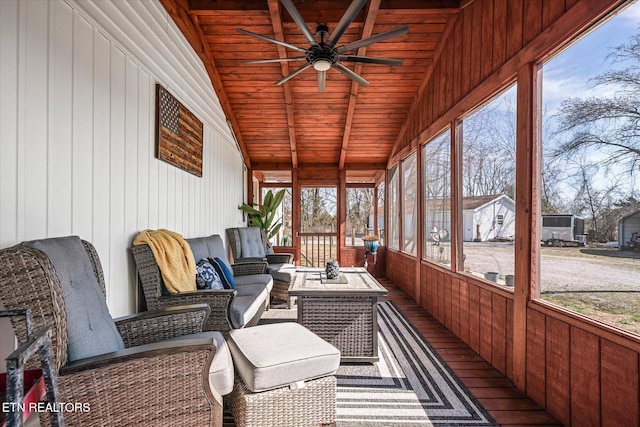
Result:
[[[204,123],[202,178],[154,158],[156,83]],[[0,1],[0,247],[91,241],[111,313],[129,314],[135,235],[239,225],[242,174],[207,73],[157,0]]]

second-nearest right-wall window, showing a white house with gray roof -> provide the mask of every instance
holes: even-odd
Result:
[[[500,285],[514,274],[515,106],[514,84],[461,122],[461,264]]]

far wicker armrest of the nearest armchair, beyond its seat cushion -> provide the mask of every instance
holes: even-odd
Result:
[[[202,332],[211,313],[207,304],[166,307],[115,319],[125,347]]]

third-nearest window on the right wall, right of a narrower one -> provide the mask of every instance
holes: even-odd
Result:
[[[424,253],[426,260],[451,264],[451,131],[423,148]]]

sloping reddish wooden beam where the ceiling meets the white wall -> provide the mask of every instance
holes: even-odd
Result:
[[[247,147],[245,146],[242,139],[240,126],[238,126],[236,117],[233,114],[233,109],[231,108],[229,97],[224,90],[222,79],[218,74],[218,70],[216,69],[213,57],[211,55],[211,52],[209,51],[206,38],[198,22],[198,17],[189,14],[189,5],[185,0],[160,0],[160,3],[165,8],[171,19],[173,19],[173,22],[175,22],[185,38],[189,41],[189,44],[196,52],[205,69],[207,70],[209,78],[211,79],[211,84],[213,85],[213,89],[218,95],[222,110],[224,111],[225,116],[227,116],[227,120],[231,122],[231,126],[235,133],[235,139],[238,142],[240,152],[244,157],[244,162],[248,168],[251,168],[251,158],[249,157]]]

